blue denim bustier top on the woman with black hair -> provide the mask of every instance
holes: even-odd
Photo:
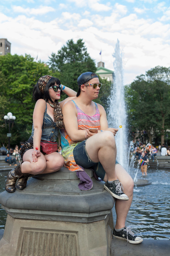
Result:
[[[32,126],[31,136],[32,137],[34,136],[34,125]],[[41,140],[56,142],[57,137],[58,137],[58,127],[56,127],[56,123],[47,114],[47,103],[46,103],[46,110],[44,112]]]

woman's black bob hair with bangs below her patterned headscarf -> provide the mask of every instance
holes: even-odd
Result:
[[[36,85],[34,86],[34,89],[33,89],[33,94],[32,94],[33,99],[35,101],[37,101],[39,99],[44,99],[46,101],[50,100],[53,103],[53,101],[52,101],[52,99],[51,99],[51,97],[49,95],[49,87],[55,85],[55,83],[57,85],[61,84],[61,82],[60,82],[60,80],[58,78],[51,77],[50,80],[48,81],[48,83],[46,84],[46,87],[45,87],[45,90],[44,90],[44,94],[42,94],[40,92],[40,90],[39,90],[38,82],[37,82]],[[61,89],[60,95],[62,95],[62,89]]]

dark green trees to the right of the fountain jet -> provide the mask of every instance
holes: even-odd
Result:
[[[157,66],[136,77],[126,86],[126,103],[131,131],[136,129],[152,138],[161,134],[165,142],[165,131],[170,125],[170,68]]]

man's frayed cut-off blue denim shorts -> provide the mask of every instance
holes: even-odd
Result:
[[[86,151],[86,140],[80,142],[77,146],[74,147],[73,156],[77,165],[80,165],[83,168],[93,169],[96,175],[100,179],[104,180],[106,172],[100,162],[95,163],[88,156],[88,153]],[[116,161],[116,165],[117,164],[118,161]]]

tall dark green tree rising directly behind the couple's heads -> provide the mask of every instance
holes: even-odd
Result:
[[[77,78],[81,73],[96,72],[95,62],[87,53],[82,39],[77,40],[76,43],[73,39],[68,40],[57,54],[51,54],[48,63],[53,73],[60,72],[58,78],[61,83],[75,91],[78,91]]]

